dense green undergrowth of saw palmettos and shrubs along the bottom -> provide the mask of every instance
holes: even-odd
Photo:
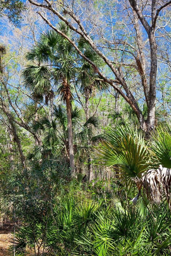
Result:
[[[94,187],[78,176],[63,179],[54,162],[34,164],[8,179],[1,205],[21,221],[15,255],[170,255],[171,219],[167,203],[150,203],[143,193],[136,206],[119,179]],[[119,188],[120,187],[120,188]],[[13,243],[13,241],[12,241]],[[11,247],[13,251],[13,246]]]

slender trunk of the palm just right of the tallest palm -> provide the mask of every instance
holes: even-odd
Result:
[[[85,93],[85,100],[86,100],[86,122],[89,119],[89,99],[88,99],[88,92]],[[90,145],[90,141],[87,137],[87,146]],[[91,153],[88,152],[88,182],[89,184],[93,180],[93,171],[92,171],[92,164],[91,164]]]

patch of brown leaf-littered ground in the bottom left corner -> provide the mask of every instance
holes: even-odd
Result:
[[[12,245],[13,235],[13,223],[9,220],[4,223],[3,227],[0,227],[0,256],[8,256],[9,247]]]

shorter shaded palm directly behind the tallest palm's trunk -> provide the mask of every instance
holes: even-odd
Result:
[[[42,135],[42,146],[36,146],[32,153],[28,154],[28,159],[42,160],[50,157],[55,159],[59,154],[68,159],[68,132],[67,132],[67,113],[62,105],[54,106],[54,120],[50,121],[47,117],[42,117],[34,121],[32,130]],[[75,127],[80,120],[80,110],[75,107],[72,111],[72,126]]]

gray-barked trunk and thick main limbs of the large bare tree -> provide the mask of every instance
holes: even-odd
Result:
[[[151,23],[150,26],[146,20],[146,17],[142,13],[142,9],[139,7],[136,0],[129,0],[129,3],[133,9],[133,15],[135,20],[135,29],[137,30],[137,18],[142,23],[144,29],[146,30],[146,33],[148,35],[149,39],[149,45],[150,45],[150,59],[151,59],[151,65],[150,65],[150,76],[149,76],[149,88],[147,88],[146,80],[145,80],[145,73],[141,74],[142,79],[142,85],[144,89],[144,95],[146,98],[147,108],[148,108],[148,114],[147,119],[144,120],[144,117],[138,107],[138,104],[131,93],[127,82],[124,79],[123,72],[122,72],[122,65],[118,66],[117,69],[113,65],[113,63],[104,55],[102,51],[96,46],[95,42],[91,39],[90,35],[87,33],[86,29],[84,28],[83,24],[80,22],[80,18],[75,15],[73,12],[73,9],[69,7],[69,5],[66,7],[66,5],[63,5],[63,10],[65,15],[67,14],[68,17],[74,20],[76,23],[75,25],[72,25],[69,18],[62,15],[58,12],[56,8],[53,7],[53,3],[49,0],[45,0],[45,3],[42,2],[36,2],[34,0],[28,0],[31,4],[36,5],[37,7],[42,7],[47,9],[48,11],[52,12],[54,15],[58,16],[60,20],[66,23],[69,28],[79,34],[84,40],[91,46],[91,48],[103,59],[103,61],[108,65],[108,67],[111,69],[111,71],[114,73],[116,79],[108,79],[101,71],[98,69],[98,67],[93,63],[90,59],[88,59],[82,51],[77,47],[75,42],[68,38],[67,35],[62,33],[60,30],[58,30],[56,27],[52,25],[52,23],[40,12],[38,11],[38,14],[42,17],[42,19],[52,28],[54,29],[58,34],[64,36],[76,49],[78,54],[82,56],[86,61],[88,61],[96,70],[96,72],[103,78],[105,82],[113,86],[113,88],[119,92],[119,94],[129,103],[131,108],[135,111],[135,114],[137,115],[137,118],[139,120],[139,124],[141,129],[146,134],[146,137],[150,136],[151,131],[154,129],[154,122],[155,122],[155,103],[156,103],[156,72],[157,72],[157,44],[155,40],[155,28],[156,28],[156,20],[158,18],[158,15],[160,11],[165,8],[166,6],[171,4],[171,1],[167,1],[163,5],[160,5],[160,7],[157,9],[157,1],[152,0],[151,2]],[[141,2],[140,2],[141,4]],[[143,55],[141,54],[141,47],[140,47],[140,41],[139,41],[139,33],[137,30],[137,44],[139,45],[139,53],[141,57],[141,67],[144,67],[143,62]],[[139,56],[135,56],[137,65],[139,65]],[[140,71],[145,71],[144,69],[140,69]],[[117,86],[117,83],[120,84],[124,90],[119,88]],[[125,91],[125,92],[124,92]]]

